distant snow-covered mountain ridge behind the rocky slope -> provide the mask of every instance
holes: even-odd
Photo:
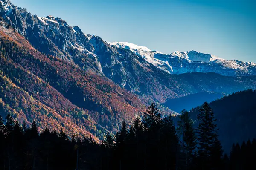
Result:
[[[151,51],[147,47],[140,47],[127,42],[110,43],[118,48],[125,48],[134,54],[143,57],[154,66],[170,73],[183,74],[189,72],[215,72],[226,76],[256,75],[256,63],[239,60],[224,60],[214,55],[196,51],[173,52],[163,54]]]

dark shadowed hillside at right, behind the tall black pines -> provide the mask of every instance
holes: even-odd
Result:
[[[212,101],[210,106],[217,119],[220,140],[226,153],[232,143],[241,143],[256,138],[256,91],[249,89]],[[196,120],[198,108],[190,114]],[[197,126],[197,122],[196,122]]]

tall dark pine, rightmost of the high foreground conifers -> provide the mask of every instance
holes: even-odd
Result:
[[[215,124],[214,112],[207,102],[199,109],[197,116],[199,168],[201,170],[218,169],[221,164],[222,148],[218,140],[218,129]]]

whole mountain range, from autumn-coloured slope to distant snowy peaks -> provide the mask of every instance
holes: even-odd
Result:
[[[27,124],[38,120],[42,129],[98,139],[116,131],[121,120],[142,115],[151,101],[166,113],[172,104],[163,104],[170,99],[256,89],[255,63],[108,43],[9,0],[0,0],[0,40],[1,115]]]

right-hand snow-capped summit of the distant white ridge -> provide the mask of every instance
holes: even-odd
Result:
[[[177,58],[186,58],[191,61],[203,61],[205,63],[209,63],[210,61],[221,59],[221,58],[216,57],[215,55],[204,54],[204,53],[197,52],[197,51],[189,51],[189,52],[175,51],[170,55],[173,57],[177,57]]]

